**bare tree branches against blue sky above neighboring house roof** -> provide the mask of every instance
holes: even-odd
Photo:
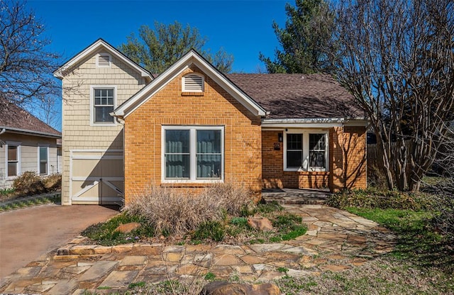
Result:
[[[59,94],[52,77],[60,57],[50,52],[43,24],[26,2],[0,0],[0,95],[16,104]]]

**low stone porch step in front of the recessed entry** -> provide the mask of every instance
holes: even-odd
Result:
[[[267,203],[323,205],[330,195],[329,189],[262,189],[262,198]]]

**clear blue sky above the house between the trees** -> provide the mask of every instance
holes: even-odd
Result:
[[[235,58],[234,72],[265,69],[259,52],[274,56],[279,45],[272,21],[284,26],[284,0],[260,1],[43,1],[28,0],[28,7],[45,25],[50,49],[65,62],[103,38],[117,47],[141,25],[154,22],[183,24],[199,29],[208,38],[206,48],[223,48]],[[289,2],[294,5],[293,0]],[[60,106],[56,106],[60,108]],[[61,130],[61,121],[55,124]]]

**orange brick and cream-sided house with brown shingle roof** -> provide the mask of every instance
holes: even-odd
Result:
[[[157,77],[99,39],[62,80],[62,204],[111,204],[150,185],[366,187],[367,120],[331,77],[222,74],[194,50]]]

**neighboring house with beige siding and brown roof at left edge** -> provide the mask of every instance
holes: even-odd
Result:
[[[0,98],[0,189],[26,171],[61,172],[61,138],[59,131]]]

